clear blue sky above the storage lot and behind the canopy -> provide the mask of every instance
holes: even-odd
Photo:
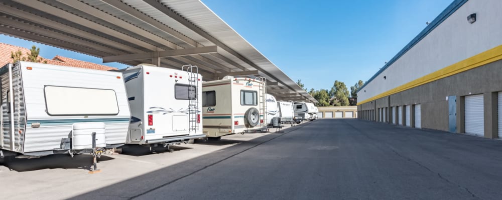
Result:
[[[307,88],[350,87],[366,81],[452,0],[202,0],[293,80]],[[30,48],[34,42],[0,35]],[[101,58],[36,44],[56,54],[101,63]],[[122,68],[119,63],[105,65]]]

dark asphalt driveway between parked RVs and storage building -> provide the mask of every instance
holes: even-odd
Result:
[[[114,183],[90,199],[502,199],[502,141],[319,119]]]

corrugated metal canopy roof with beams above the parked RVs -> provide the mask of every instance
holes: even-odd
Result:
[[[1,1],[0,32],[105,62],[197,65],[206,81],[265,76],[278,100],[317,102],[198,0]]]

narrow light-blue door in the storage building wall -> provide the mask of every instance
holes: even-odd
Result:
[[[465,133],[484,135],[483,94],[465,96]]]

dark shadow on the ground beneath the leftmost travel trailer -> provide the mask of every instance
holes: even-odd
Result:
[[[93,157],[90,154],[74,155],[73,157],[68,154],[53,154],[30,159],[15,158],[14,156],[9,156],[3,158],[3,160],[1,160],[0,162],[0,165],[4,165],[10,170],[15,170],[18,172],[55,168],[75,168],[89,170],[92,166],[92,159]],[[106,155],[101,155],[101,157],[98,158],[98,162],[111,159],[114,158],[108,157]]]

